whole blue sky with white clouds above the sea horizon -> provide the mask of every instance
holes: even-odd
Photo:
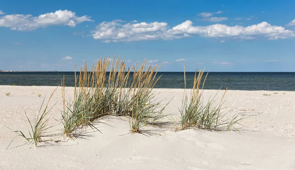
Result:
[[[160,71],[295,72],[295,0],[1,0],[0,70],[115,55]]]

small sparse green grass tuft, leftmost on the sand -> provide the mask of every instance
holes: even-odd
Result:
[[[57,87],[58,88],[58,87]],[[46,131],[51,128],[52,126],[48,126],[48,120],[49,118],[46,118],[46,115],[50,112],[50,110],[54,107],[51,107],[50,109],[48,108],[48,104],[54,94],[54,92],[57,90],[57,88],[53,91],[53,93],[51,94],[51,96],[48,99],[47,105],[45,106],[44,110],[42,111],[43,105],[44,105],[44,101],[45,98],[43,99],[43,102],[41,104],[41,107],[39,109],[39,112],[37,115],[34,116],[34,120],[30,120],[28,117],[27,112],[25,111],[26,117],[28,119],[29,125],[30,125],[30,130],[29,130],[29,137],[26,136],[22,131],[13,131],[16,134],[18,134],[16,137],[21,136],[23,138],[25,138],[28,142],[32,142],[35,144],[35,146],[37,147],[37,144],[39,142],[45,142],[42,141],[42,137],[44,137]],[[9,128],[10,129],[10,128]],[[11,129],[10,129],[11,130]],[[16,138],[15,137],[15,138]],[[12,141],[15,139],[13,138]],[[11,142],[12,142],[11,141]],[[7,146],[7,148],[10,146],[11,142],[9,143],[9,145]],[[6,148],[6,149],[7,149]]]

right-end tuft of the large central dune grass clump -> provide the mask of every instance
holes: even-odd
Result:
[[[153,124],[160,118],[163,118],[163,111],[167,106],[163,107],[161,101],[155,100],[155,93],[153,91],[154,85],[161,77],[159,76],[155,79],[160,67],[155,71],[156,65],[154,67],[148,66],[144,71],[145,67],[146,61],[143,62],[137,71],[134,68],[133,81],[130,86],[132,91],[130,101],[132,112],[129,124],[132,133],[138,133],[143,126]]]

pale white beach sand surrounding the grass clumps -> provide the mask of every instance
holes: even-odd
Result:
[[[41,142],[36,148],[15,137],[11,130],[28,135],[30,118],[43,97],[55,87],[0,86],[1,170],[295,170],[295,92],[228,90],[225,99],[229,115],[255,115],[243,120],[241,133],[147,127],[145,135],[130,134],[126,117],[109,117],[97,123],[102,133],[88,130],[85,139]],[[73,91],[69,87],[68,94]],[[159,98],[172,99],[168,111],[177,113],[183,89],[156,89]],[[5,93],[10,92],[10,96]],[[205,98],[217,90],[205,90]],[[41,94],[42,97],[38,97]],[[263,94],[271,94],[264,96]],[[221,96],[222,92],[218,96]],[[60,133],[61,90],[50,103],[51,132]],[[55,119],[54,119],[55,118]],[[53,139],[53,140],[57,140]],[[65,139],[67,140],[67,139]]]

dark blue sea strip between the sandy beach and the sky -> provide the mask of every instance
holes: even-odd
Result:
[[[186,73],[187,87],[192,86],[194,72]],[[0,85],[57,86],[65,76],[65,85],[74,86],[74,72],[0,72]],[[184,88],[183,72],[159,72],[156,88]],[[295,73],[291,72],[209,72],[205,89],[295,90]]]

